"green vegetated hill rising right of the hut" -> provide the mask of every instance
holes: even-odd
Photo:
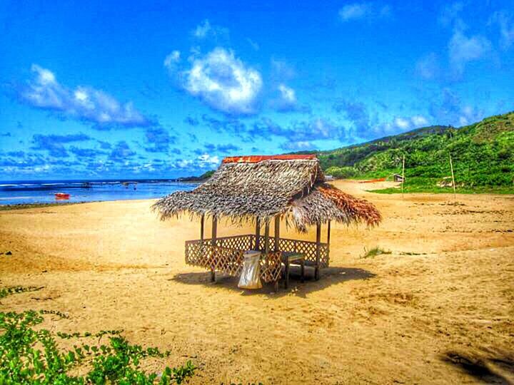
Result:
[[[461,128],[418,128],[317,155],[323,170],[336,178],[391,178],[401,173],[405,156],[407,192],[448,192],[438,183],[451,175],[451,155],[458,191],[513,193],[514,112]]]

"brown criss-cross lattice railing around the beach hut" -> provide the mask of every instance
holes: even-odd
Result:
[[[259,249],[263,251],[264,237],[260,237]],[[236,235],[216,238],[216,246],[210,239],[186,241],[186,264],[216,270],[237,277],[243,267],[243,253],[256,249],[255,235]],[[275,238],[269,237],[268,255],[261,255],[261,279],[273,282],[280,278],[281,252],[301,252],[306,261],[316,263],[316,242],[280,238],[275,250]],[[328,245],[320,245],[320,267],[328,267]]]

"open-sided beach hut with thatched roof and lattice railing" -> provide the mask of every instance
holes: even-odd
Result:
[[[200,221],[200,239],[186,241],[186,264],[232,276],[241,274],[243,254],[261,252],[260,274],[276,289],[285,265],[286,284],[291,263],[320,269],[330,261],[331,221],[347,225],[377,225],[381,214],[376,207],[325,183],[316,155],[241,156],[223,159],[210,179],[192,191],[178,191],[158,200],[153,209],[161,220],[189,213]],[[211,238],[204,236],[204,221],[212,221]],[[255,232],[217,237],[218,220],[233,225],[252,222]],[[316,242],[280,236],[281,220],[297,232],[316,226]],[[270,234],[274,223],[273,236]],[[321,226],[327,225],[326,242]],[[263,227],[263,229],[262,229]],[[263,230],[261,232],[261,230]]]

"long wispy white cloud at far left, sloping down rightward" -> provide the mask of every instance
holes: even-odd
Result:
[[[53,72],[33,64],[34,79],[19,90],[19,96],[30,106],[56,111],[67,118],[95,123],[97,128],[112,125],[147,126],[151,121],[132,103],[120,103],[104,91],[89,86],[74,90],[61,85]]]

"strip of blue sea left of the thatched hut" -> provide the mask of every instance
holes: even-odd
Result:
[[[193,190],[197,185],[198,182],[163,179],[6,180],[0,181],[0,205],[153,199]]]

